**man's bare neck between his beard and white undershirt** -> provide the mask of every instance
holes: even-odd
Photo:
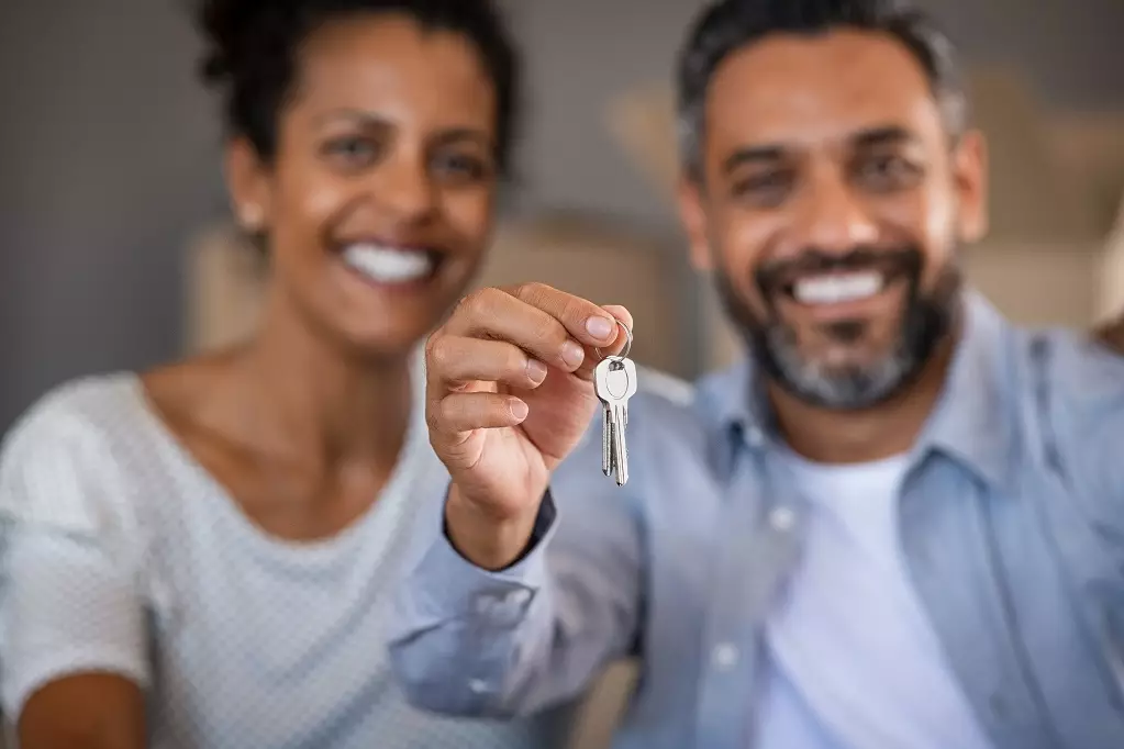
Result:
[[[909,386],[859,411],[812,405],[770,382],[769,402],[781,435],[796,453],[817,463],[869,463],[908,451],[941,396],[954,347],[950,336]]]

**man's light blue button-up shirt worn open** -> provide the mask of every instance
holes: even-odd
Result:
[[[1124,747],[1124,357],[966,309],[898,496],[909,578],[996,749]],[[507,570],[429,529],[391,640],[411,698],[526,713],[636,656],[618,749],[752,747],[763,627],[807,517],[758,376],[637,395],[623,488],[598,420]]]

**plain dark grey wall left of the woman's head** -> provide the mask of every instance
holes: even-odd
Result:
[[[179,349],[180,247],[223,207],[175,0],[0,1],[0,428]]]

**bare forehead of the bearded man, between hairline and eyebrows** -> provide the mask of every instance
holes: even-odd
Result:
[[[900,127],[940,138],[940,110],[919,62],[891,36],[837,30],[778,34],[718,66],[707,94],[715,145],[814,147]]]

